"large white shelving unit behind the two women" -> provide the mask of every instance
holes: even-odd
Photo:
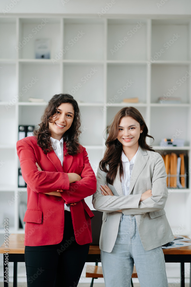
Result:
[[[105,147],[104,129],[128,97],[139,97],[139,103],[130,105],[142,113],[155,150],[184,152],[190,158],[190,75],[185,77],[191,64],[190,27],[189,19],[172,17],[0,18],[0,224],[7,217],[11,232],[24,232],[19,207],[27,196],[26,188],[17,187],[18,125],[38,125],[45,107],[28,102],[29,97],[48,102],[58,93],[74,96],[82,115],[81,143],[95,172]],[[34,59],[39,38],[51,40],[51,59]],[[159,104],[165,95],[181,97],[182,104]],[[161,138],[177,130],[184,147],[159,146]],[[169,189],[165,211],[175,234],[180,226],[181,233],[191,234],[190,191]],[[93,209],[91,197],[86,201]]]

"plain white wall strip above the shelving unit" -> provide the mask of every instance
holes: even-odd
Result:
[[[0,13],[3,13],[7,5],[11,4],[11,9],[6,15],[12,13],[97,14],[111,1],[114,4],[106,11],[107,14],[191,14],[190,0],[1,0]],[[162,5],[157,7],[157,3]]]

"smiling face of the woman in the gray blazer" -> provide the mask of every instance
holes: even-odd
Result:
[[[127,148],[138,149],[140,133],[142,133],[142,129],[136,120],[129,116],[123,117],[119,123],[117,137],[118,141],[123,145],[123,150]]]

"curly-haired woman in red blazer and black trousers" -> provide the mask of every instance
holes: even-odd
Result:
[[[84,198],[96,191],[87,152],[78,142],[80,113],[68,94],[54,95],[35,136],[17,142],[27,183],[27,286],[77,286],[89,251],[90,218]]]

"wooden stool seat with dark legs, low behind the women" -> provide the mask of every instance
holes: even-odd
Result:
[[[98,262],[95,263],[95,265],[87,265],[86,267],[86,276],[92,278],[90,287],[93,287],[93,280],[98,278],[103,278],[103,272],[102,267],[98,266]],[[133,273],[131,276],[131,286],[133,287],[132,278],[138,278],[137,276],[137,270],[135,268],[135,265],[133,267]]]

